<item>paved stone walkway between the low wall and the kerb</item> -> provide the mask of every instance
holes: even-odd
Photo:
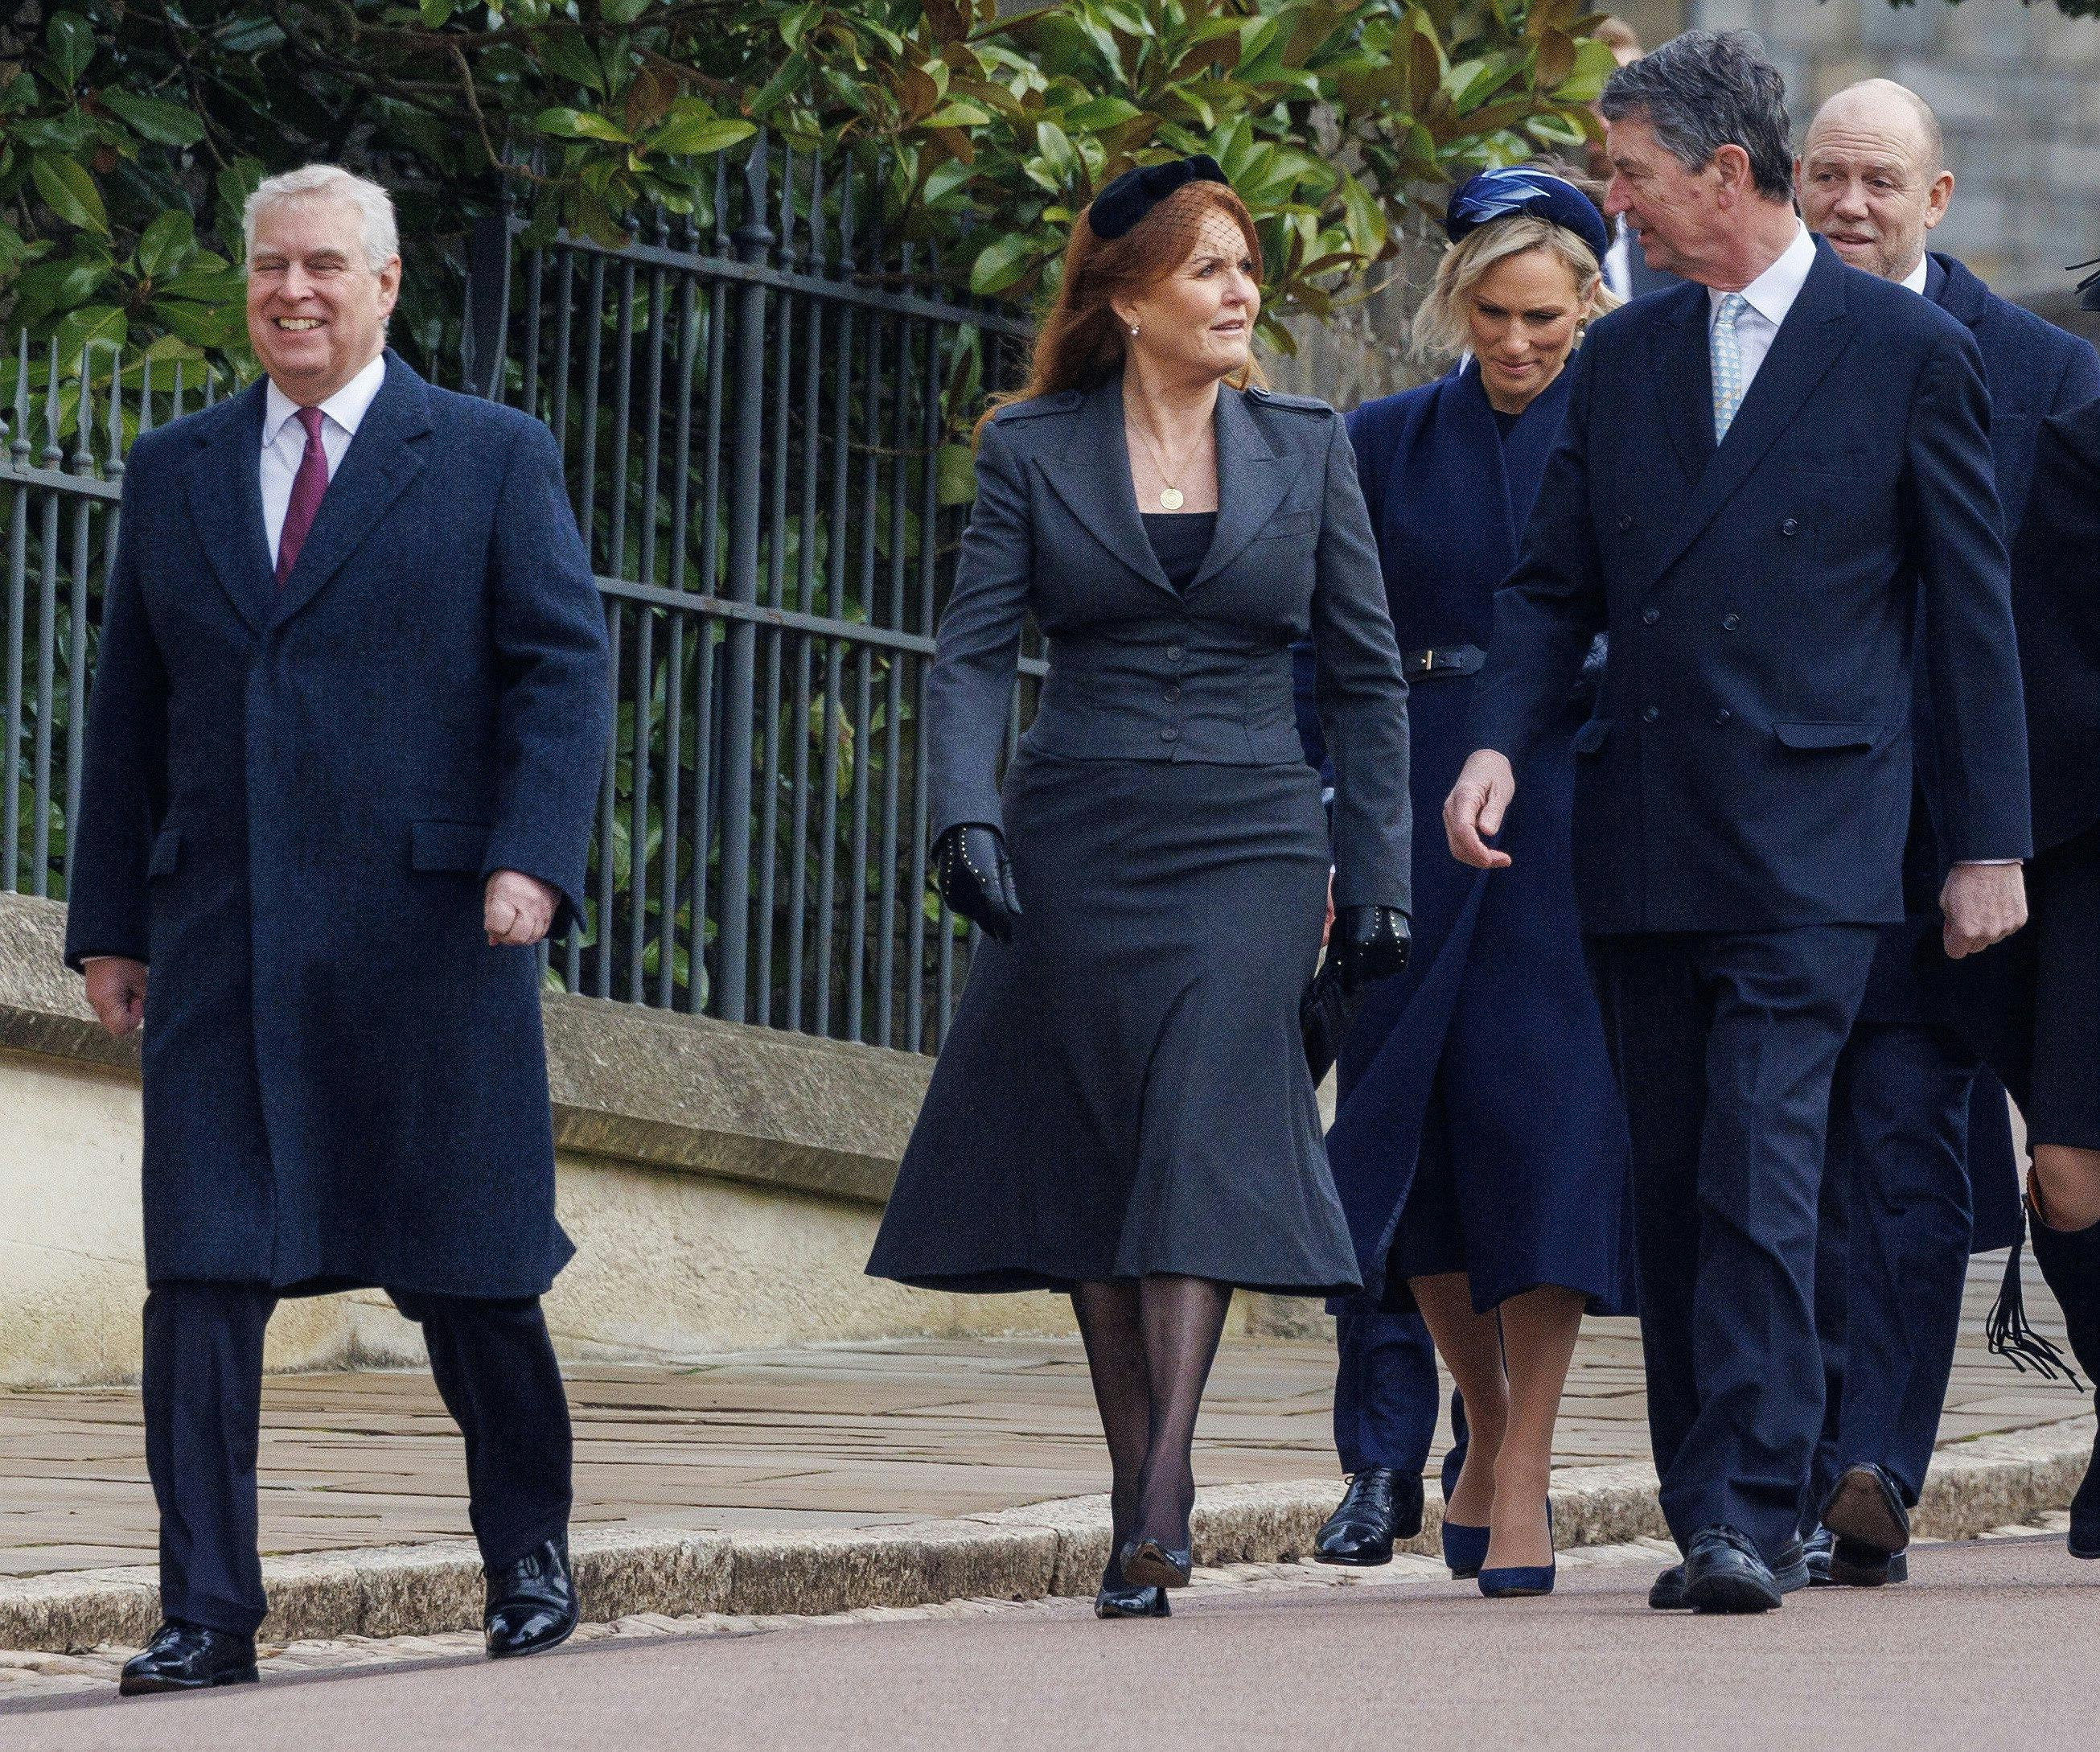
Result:
[[[1982,1349],[2001,1256],[1976,1263],[1940,1441],[2079,1416],[2090,1399]],[[2029,1271],[2029,1311],[2060,1338]],[[1201,1483],[1334,1475],[1325,1344],[1231,1344],[1199,1428]],[[1107,1487],[1075,1340],[899,1340],[569,1376],[578,1525],[869,1527]],[[265,1391],[269,1555],[466,1536],[458,1435],[422,1374],[277,1376]],[[1646,1458],[1632,1321],[1586,1326],[1560,1464]],[[1438,1437],[1438,1454],[1443,1437]],[[139,1397],[0,1393],[0,1576],[151,1563]]]

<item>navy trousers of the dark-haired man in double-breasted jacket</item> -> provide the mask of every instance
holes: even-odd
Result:
[[[1663,1517],[1793,1540],[1823,1424],[1816,1189],[1877,933],[1592,937],[1634,1141],[1648,1439]]]

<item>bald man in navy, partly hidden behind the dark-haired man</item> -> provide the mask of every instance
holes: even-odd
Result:
[[[2041,420],[2100,395],[2100,357],[1995,296],[1926,237],[1955,193],[1932,109],[1867,80],[1816,111],[1796,166],[1802,216],[1846,263],[1907,286],[1976,338],[1991,387],[1991,456],[2006,529],[2020,523]],[[1882,931],[1867,998],[1838,1059],[1816,1242],[1823,1439],[1804,1517],[1829,1504],[1810,1569],[1875,1586],[1905,1578],[1909,1510],[1926,1483],[1961,1323],[1970,1252],[2020,1233],[2006,1090],[1919,989],[1938,954],[1942,872],[1930,784],[1932,695],[1917,670],[1917,784],[1903,924]]]

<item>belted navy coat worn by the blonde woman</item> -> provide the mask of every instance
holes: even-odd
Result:
[[[1348,416],[1403,651],[1487,645],[1567,397],[1562,372],[1504,437],[1468,363]],[[1302,697],[1312,674],[1300,647]],[[1497,840],[1512,868],[1491,876],[1451,857],[1434,826],[1470,752],[1472,689],[1472,676],[1441,674],[1407,695],[1413,815],[1430,823],[1413,844],[1413,954],[1407,973],[1367,992],[1342,1042],[1327,1162],[1376,1294],[1434,1103],[1474,1305],[1560,1284],[1617,1311],[1632,1290],[1625,1118],[1569,870],[1569,744],[1588,697],[1569,693],[1558,729],[1525,763],[1527,807]],[[1319,718],[1302,710],[1300,733],[1321,763]]]

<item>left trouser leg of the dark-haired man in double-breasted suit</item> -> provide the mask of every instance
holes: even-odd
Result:
[[[1693,1298],[1699,1267],[1699,1132],[1707,1010],[1690,937],[1592,937],[1590,983],[1634,1145],[1634,1258],[1648,1443],[1667,1473],[1699,1414]],[[1678,1527],[1678,1540],[1699,1523]]]

